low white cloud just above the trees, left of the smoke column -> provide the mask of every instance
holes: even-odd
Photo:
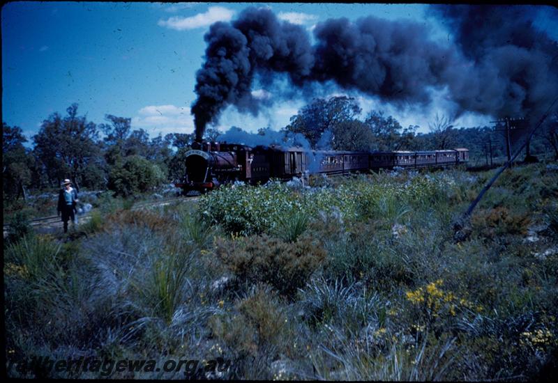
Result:
[[[193,117],[189,107],[174,105],[149,105],[137,111],[132,118],[133,129],[143,128],[150,136],[167,133],[192,133]]]

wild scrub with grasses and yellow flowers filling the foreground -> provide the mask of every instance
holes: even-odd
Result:
[[[98,212],[67,242],[21,224],[4,245],[8,361],[231,361],[200,379],[548,379],[558,171],[506,171],[455,237],[492,173],[229,185],[197,203]]]

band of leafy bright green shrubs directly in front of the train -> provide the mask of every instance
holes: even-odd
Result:
[[[455,181],[445,176],[417,175],[400,185],[387,176],[361,175],[349,178],[335,189],[300,191],[278,182],[262,187],[227,185],[202,196],[199,211],[229,233],[252,235],[273,230],[280,233],[288,227],[289,232],[294,230],[292,234],[296,237],[296,233],[306,227],[303,216],[311,219],[333,211],[339,211],[347,221],[384,219],[393,224],[411,208],[443,200],[453,190],[453,184]],[[295,212],[301,215],[292,217]]]

